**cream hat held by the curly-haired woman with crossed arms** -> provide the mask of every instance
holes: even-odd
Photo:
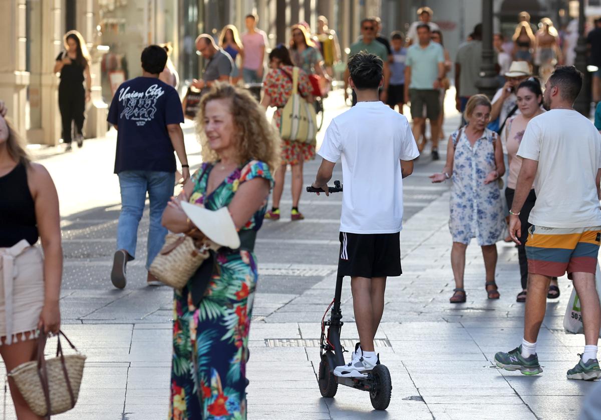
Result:
[[[240,247],[240,236],[227,207],[212,211],[183,201],[182,209],[190,221],[211,241],[233,250]]]

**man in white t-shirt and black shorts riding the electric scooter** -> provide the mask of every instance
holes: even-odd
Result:
[[[344,193],[338,274],[350,276],[361,343],[351,362],[334,374],[362,377],[377,363],[374,336],[384,310],[386,277],[401,274],[399,233],[403,223],[403,178],[419,156],[407,118],[378,98],[383,62],[359,52],[349,60],[349,83],[357,104],[334,118],[319,155],[313,187],[328,191],[336,161],[342,160]]]

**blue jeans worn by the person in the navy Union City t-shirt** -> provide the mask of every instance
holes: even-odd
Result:
[[[150,229],[148,229],[146,256],[146,269],[148,269],[165,243],[167,229],[161,226],[160,219],[169,198],[173,195],[175,173],[125,170],[118,175],[121,187],[121,213],[117,225],[117,249],[126,250],[132,257],[136,255],[138,224],[144,212],[148,191],[150,199]]]

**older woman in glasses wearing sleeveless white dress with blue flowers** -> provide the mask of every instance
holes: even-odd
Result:
[[[498,180],[505,173],[503,149],[499,136],[486,128],[491,104],[485,95],[474,95],[466,105],[468,125],[451,134],[447,146],[447,163],[442,173],[430,176],[432,182],[442,182],[453,176],[451,189],[451,219],[453,236],[451,266],[455,290],[451,303],[466,301],[463,289],[465,251],[472,238],[482,247],[489,299],[498,299],[495,283],[496,242],[507,229]]]

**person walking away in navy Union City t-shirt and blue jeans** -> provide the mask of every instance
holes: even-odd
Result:
[[[115,173],[121,187],[121,213],[117,226],[117,252],[111,281],[118,289],[126,284],[126,263],[136,253],[138,224],[150,199],[150,229],[146,269],[165,242],[167,230],[160,219],[175,185],[175,156],[182,163],[183,182],[190,178],[184,136],[182,103],[172,86],[159,80],[167,53],[157,45],[142,51],[142,76],[119,86],[107,121],[117,128]],[[148,273],[148,284],[157,284]],[[160,284],[160,283],[158,283]]]

